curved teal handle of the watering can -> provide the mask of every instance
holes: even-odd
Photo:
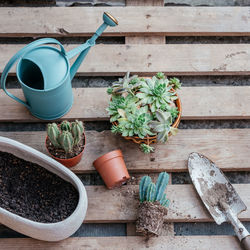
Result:
[[[13,65],[16,63],[16,61],[25,53],[27,53],[29,50],[42,45],[42,44],[46,44],[46,43],[52,43],[52,44],[58,44],[61,48],[61,52],[66,55],[64,47],[62,46],[62,44],[57,41],[54,38],[42,38],[39,40],[36,40],[28,45],[26,45],[24,48],[22,48],[21,50],[19,50],[10,60],[9,62],[6,64],[2,76],[1,76],[1,88],[4,90],[4,92],[11,97],[12,99],[14,99],[15,101],[23,104],[25,107],[30,108],[29,104],[27,102],[24,102],[23,100],[19,99],[18,97],[14,96],[13,94],[11,94],[9,91],[7,91],[6,89],[6,79],[7,76],[9,74],[10,69],[13,67]]]

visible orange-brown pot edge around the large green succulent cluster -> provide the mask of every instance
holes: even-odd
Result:
[[[180,124],[180,121],[181,121],[181,113],[182,113],[182,106],[181,106],[181,100],[178,96],[178,94],[176,94],[176,96],[178,97],[178,99],[175,101],[175,104],[178,108],[178,111],[179,111],[179,114],[178,114],[178,117],[175,119],[175,122],[173,123],[172,127],[173,128],[178,128],[179,124]],[[113,125],[118,125],[117,122],[112,122]],[[171,135],[171,133],[169,133],[169,136]],[[132,141],[134,143],[137,143],[137,144],[142,144],[142,143],[145,143],[147,145],[150,145],[150,144],[154,144],[154,143],[157,143],[157,137],[156,136],[146,136],[145,138],[140,138],[138,136],[124,136],[124,138],[126,140],[129,140],[129,141]]]

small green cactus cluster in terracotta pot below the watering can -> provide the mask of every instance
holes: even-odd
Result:
[[[80,162],[86,144],[83,122],[49,123],[45,144],[54,159],[66,167],[75,166]]]

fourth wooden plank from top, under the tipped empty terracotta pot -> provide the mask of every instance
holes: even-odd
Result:
[[[41,152],[45,149],[43,132],[0,132]],[[82,161],[72,168],[75,173],[94,172],[93,161],[99,156],[120,148],[131,173],[187,171],[191,152],[211,158],[224,171],[250,170],[250,129],[185,129],[179,130],[166,145],[157,145],[153,154],[143,154],[138,145],[110,131],[87,131],[87,145]]]

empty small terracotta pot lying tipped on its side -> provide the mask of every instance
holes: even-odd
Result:
[[[93,164],[109,189],[120,187],[130,178],[121,150],[111,151]]]

